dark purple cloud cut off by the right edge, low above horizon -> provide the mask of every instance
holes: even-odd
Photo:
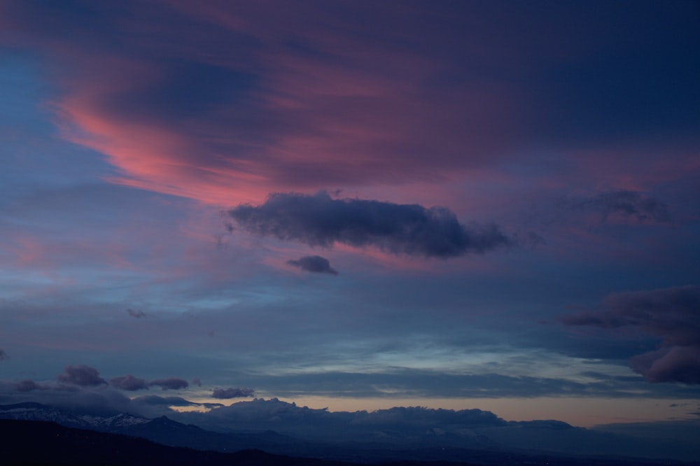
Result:
[[[610,295],[602,311],[583,311],[561,321],[610,329],[633,327],[660,337],[661,348],[634,356],[630,367],[650,382],[700,383],[698,286]]]

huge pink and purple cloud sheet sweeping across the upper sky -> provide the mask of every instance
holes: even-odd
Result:
[[[697,169],[696,153],[664,162],[661,144],[566,146],[571,141],[552,136],[556,122],[542,129],[546,92],[507,78],[517,71],[534,79],[538,64],[552,66],[566,50],[590,52],[603,36],[569,43],[563,34],[561,43],[546,43],[552,30],[524,31],[517,12],[479,10],[474,18],[496,15],[494,24],[526,36],[516,53],[511,39],[476,40],[492,31],[484,34],[470,15],[455,23],[432,8],[159,1],[142,13],[115,17],[118,45],[82,40],[80,31],[59,34],[31,15],[8,21],[8,37],[50,57],[47,76],[62,91],[51,103],[62,135],[104,154],[117,170],[111,183],[214,206],[342,188],[491,220],[510,215],[510,199],[522,205],[525,196],[537,202],[556,190],[647,191]],[[164,106],[140,98],[167,87],[178,66],[251,79],[224,85],[220,100],[191,115],[169,113],[168,99]],[[186,102],[197,87],[207,86],[166,97]],[[243,97],[227,100],[239,91]],[[542,146],[542,132],[551,148]],[[513,160],[522,166],[505,171]]]

